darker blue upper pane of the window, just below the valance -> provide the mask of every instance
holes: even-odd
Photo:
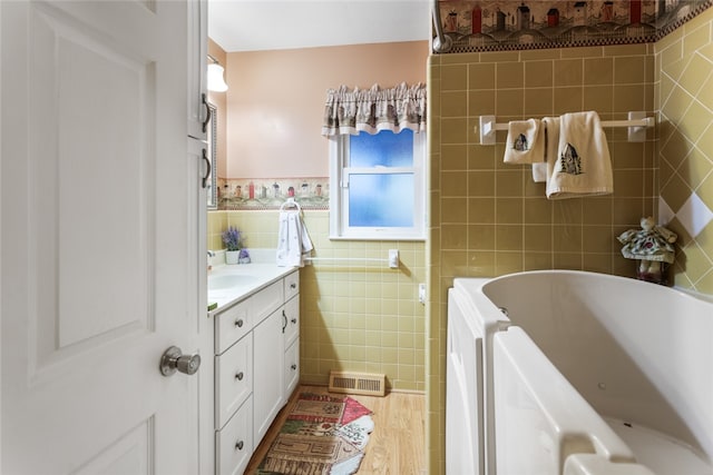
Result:
[[[349,138],[351,167],[412,167],[413,132],[382,130],[370,136],[361,132]]]

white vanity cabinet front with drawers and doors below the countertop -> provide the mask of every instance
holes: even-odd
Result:
[[[299,383],[300,273],[215,314],[215,473],[242,474]]]

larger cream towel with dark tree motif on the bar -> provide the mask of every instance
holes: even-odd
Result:
[[[559,118],[557,135],[550,129],[550,121],[546,123],[547,198],[611,194],[612,159],[599,116],[594,111],[565,113]],[[554,144],[557,155],[551,159]]]

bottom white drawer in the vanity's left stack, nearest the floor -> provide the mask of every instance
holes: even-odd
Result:
[[[253,454],[253,397],[235,413],[233,418],[215,433],[215,473],[240,475]]]

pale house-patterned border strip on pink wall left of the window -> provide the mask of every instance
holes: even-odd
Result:
[[[287,198],[303,209],[329,209],[330,179],[218,178],[218,209],[279,209]]]

